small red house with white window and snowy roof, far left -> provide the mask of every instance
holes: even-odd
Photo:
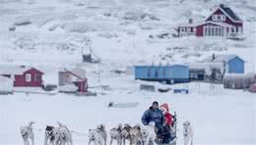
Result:
[[[0,75],[13,78],[14,87],[42,87],[43,73],[25,66],[5,66],[1,67]]]

